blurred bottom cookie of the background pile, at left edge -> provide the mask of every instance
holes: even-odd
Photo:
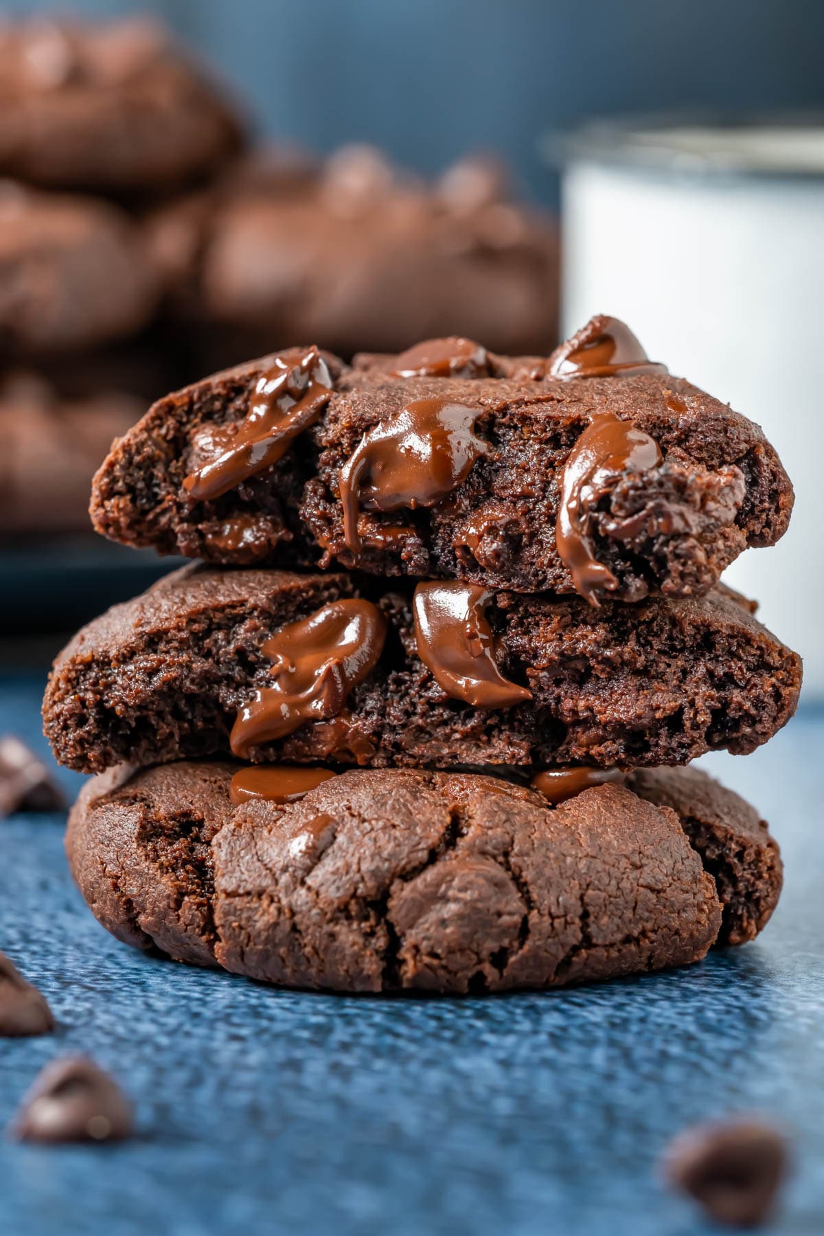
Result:
[[[100,452],[127,430],[138,407],[122,392],[65,399],[38,375],[0,377],[2,533],[85,530]]]

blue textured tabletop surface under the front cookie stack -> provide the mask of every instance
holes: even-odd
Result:
[[[0,682],[0,733],[36,740],[38,693]],[[693,1121],[761,1110],[797,1147],[767,1230],[820,1236],[823,739],[807,712],[746,760],[705,761],[782,843],[759,942],[547,995],[345,999],[151,960],[85,910],[61,818],[0,822],[0,948],[59,1018],[56,1036],[0,1039],[0,1124],[68,1051],[111,1068],[140,1120],[119,1147],[1,1145],[0,1232],[691,1236],[714,1229],[661,1185],[660,1151]]]

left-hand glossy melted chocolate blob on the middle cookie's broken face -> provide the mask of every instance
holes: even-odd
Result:
[[[283,627],[263,645],[274,685],[256,691],[238,712],[230,739],[235,755],[246,759],[253,747],[336,716],[377,665],[385,635],[378,607],[356,598],[331,601]]]

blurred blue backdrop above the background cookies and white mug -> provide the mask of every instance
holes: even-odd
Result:
[[[42,12],[54,0],[0,11]],[[326,151],[378,142],[437,171],[499,150],[542,199],[546,130],[587,116],[824,101],[820,0],[73,0],[153,11],[235,82],[263,129]]]

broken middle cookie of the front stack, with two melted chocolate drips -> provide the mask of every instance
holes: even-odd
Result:
[[[796,654],[724,588],[595,609],[184,567],[75,635],[43,717],[57,759],[85,771],[227,754],[230,735],[252,760],[654,766],[754,750],[799,684]]]

